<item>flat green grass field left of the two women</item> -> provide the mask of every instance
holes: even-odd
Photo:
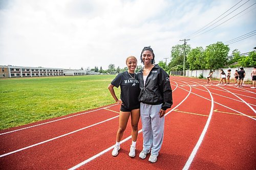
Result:
[[[108,85],[115,76],[0,79],[0,129],[112,104]]]

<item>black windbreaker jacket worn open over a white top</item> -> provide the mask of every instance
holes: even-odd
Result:
[[[173,92],[170,87],[169,76],[159,66],[155,65],[146,78],[144,87],[143,68],[138,72],[140,85],[139,102],[148,105],[160,105],[166,110],[173,105]]]

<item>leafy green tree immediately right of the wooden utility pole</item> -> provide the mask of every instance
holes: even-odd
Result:
[[[205,53],[203,47],[192,49],[187,55],[187,62],[190,70],[205,68]]]

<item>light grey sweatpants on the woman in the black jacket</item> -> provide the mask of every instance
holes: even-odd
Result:
[[[164,116],[158,114],[160,105],[147,105],[140,103],[140,117],[143,133],[143,151],[157,155],[163,143]]]

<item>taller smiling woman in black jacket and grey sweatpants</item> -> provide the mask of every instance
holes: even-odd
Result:
[[[144,67],[138,72],[140,86],[140,116],[143,132],[143,150],[139,157],[151,156],[148,161],[157,161],[163,142],[164,114],[173,104],[172,88],[168,74],[155,65],[155,55],[150,46],[144,47],[141,56]]]

